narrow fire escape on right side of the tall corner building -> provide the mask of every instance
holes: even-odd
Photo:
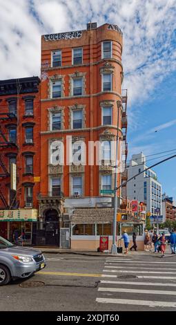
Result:
[[[128,180],[128,170],[126,169],[126,159],[128,155],[128,143],[126,142],[126,133],[127,133],[127,89],[123,89],[121,92],[122,95],[122,116],[121,116],[121,129],[123,131],[123,141],[121,142],[121,163],[122,163],[122,172],[121,172],[121,185],[126,183]],[[126,194],[126,185],[121,187],[121,209],[126,209],[127,205],[127,194]]]

